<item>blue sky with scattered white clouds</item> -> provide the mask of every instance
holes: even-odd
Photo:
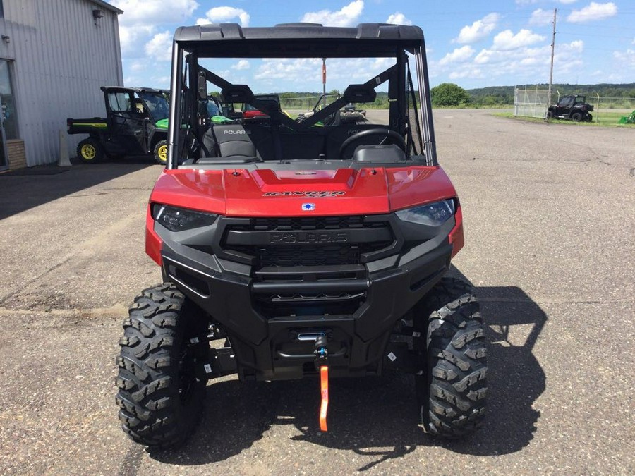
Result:
[[[171,40],[179,26],[238,23],[243,27],[262,27],[298,21],[325,26],[418,25],[425,35],[432,87],[440,83],[456,83],[466,89],[548,83],[555,8],[554,83],[635,82],[635,0],[109,0],[109,3],[124,12],[119,16],[119,34],[126,86],[169,87]],[[228,68],[233,73],[247,73],[256,65],[238,61]],[[328,78],[345,78],[346,71],[350,71],[343,61],[331,63],[328,68]],[[316,76],[320,78],[319,71]],[[252,89],[274,92],[259,77],[262,75],[253,75]],[[327,83],[327,90],[341,87],[337,79],[332,82]],[[321,78],[315,90],[321,90]]]

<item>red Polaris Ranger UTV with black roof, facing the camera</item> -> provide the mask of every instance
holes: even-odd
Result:
[[[322,58],[368,74],[303,121],[214,72],[241,59],[255,71],[284,62],[292,73],[280,90],[310,91]],[[269,118],[212,123],[198,104],[214,89]],[[377,90],[389,94],[383,118],[324,122]],[[181,444],[207,382],[237,374],[320,379],[326,431],[329,379],[394,371],[415,379],[426,432],[479,427],[483,322],[471,287],[445,276],[463,222],[437,162],[421,29],[179,28],[171,97],[168,163],[146,221],[163,282],[135,298],[123,324],[123,430],[147,446]]]

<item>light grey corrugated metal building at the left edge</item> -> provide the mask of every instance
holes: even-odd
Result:
[[[0,0],[0,170],[59,159],[68,117],[105,114],[123,85],[119,8],[102,0]],[[75,149],[82,137],[68,136]]]

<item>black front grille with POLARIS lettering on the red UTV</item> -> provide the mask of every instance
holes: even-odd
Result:
[[[225,256],[251,266],[265,319],[353,315],[368,299],[365,260],[397,241],[389,216],[227,219],[222,229]]]

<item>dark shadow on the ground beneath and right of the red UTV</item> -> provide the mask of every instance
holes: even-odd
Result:
[[[416,425],[413,378],[405,374],[333,380],[329,385],[329,432],[325,434],[318,429],[317,378],[260,383],[232,380],[208,386],[207,414],[183,448],[151,451],[150,456],[181,465],[214,463],[241,453],[267,430],[276,432],[279,425],[293,425],[296,436],[291,439],[296,441],[373,456],[359,471],[401,458],[418,446],[440,446],[478,456],[520,451],[533,439],[540,417],[532,404],[545,389],[545,374],[532,350],[547,316],[519,288],[482,287],[476,291],[489,326],[490,390],[485,425],[472,437],[444,441],[425,434]],[[509,331],[516,326],[526,331],[520,333],[526,338],[522,344],[514,338],[514,345]]]

